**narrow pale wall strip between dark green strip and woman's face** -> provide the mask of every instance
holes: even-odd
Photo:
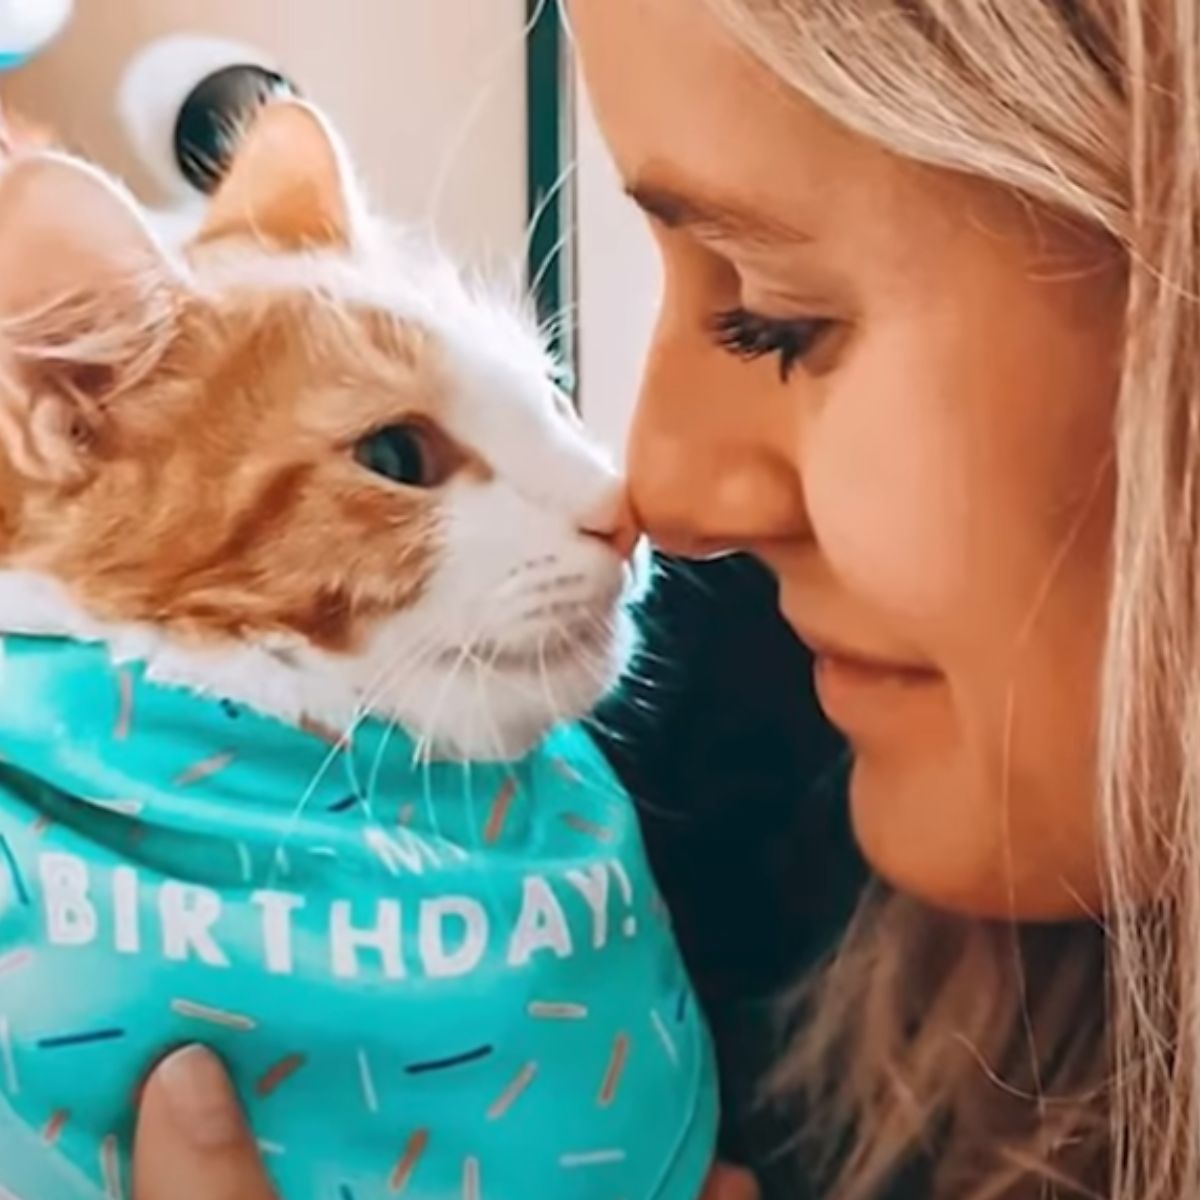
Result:
[[[641,214],[623,194],[583,89],[576,102],[578,374],[583,416],[623,449],[658,311],[661,271]]]

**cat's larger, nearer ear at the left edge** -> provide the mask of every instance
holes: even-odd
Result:
[[[101,172],[49,152],[0,170],[0,448],[12,466],[78,478],[108,401],[172,343],[186,292]]]

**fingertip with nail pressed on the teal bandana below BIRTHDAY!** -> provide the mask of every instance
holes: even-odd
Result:
[[[133,1153],[136,1200],[275,1200],[217,1057],[187,1046],[146,1084]]]

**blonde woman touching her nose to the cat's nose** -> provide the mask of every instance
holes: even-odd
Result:
[[[854,752],[877,882],[786,1151],[836,1200],[1200,1195],[1200,4],[570,14],[666,266],[637,512],[769,569]]]

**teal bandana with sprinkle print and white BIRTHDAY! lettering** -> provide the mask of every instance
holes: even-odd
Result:
[[[196,1040],[284,1200],[698,1195],[708,1038],[582,732],[418,766],[102,647],[10,637],[0,680],[0,1200],[127,1196],[142,1074]]]

